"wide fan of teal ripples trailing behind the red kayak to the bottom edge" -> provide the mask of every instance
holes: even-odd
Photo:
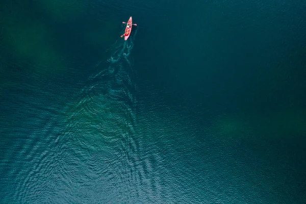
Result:
[[[132,48],[127,46],[129,52]],[[107,69],[113,72],[93,74],[74,101],[63,94],[61,110],[41,104],[27,110],[40,114],[23,124],[27,136],[14,144],[13,158],[7,159],[18,161],[11,170],[15,201],[120,203],[158,189],[159,181],[148,177],[154,151],[144,151],[136,136],[137,100],[127,57],[112,61]]]

